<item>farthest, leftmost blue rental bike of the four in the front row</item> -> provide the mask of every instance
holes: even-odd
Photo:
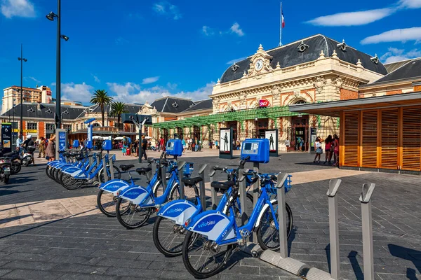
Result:
[[[156,164],[156,169],[154,176],[152,176],[152,179],[148,178],[148,172],[152,170],[152,167],[140,167],[135,170],[139,175],[144,175],[147,177],[148,180],[148,186],[151,186],[154,195],[158,193],[159,188],[162,184],[161,179],[161,172],[159,172],[159,160],[156,160],[154,158],[147,160],[148,165],[152,165],[153,163]],[[133,181],[133,178],[131,176],[132,168],[135,167],[134,165],[120,165],[120,169],[123,172],[128,172],[129,181],[123,181],[121,179],[114,179],[107,181],[106,183],[101,183],[99,188],[100,191],[97,195],[97,205],[98,209],[102,212],[102,214],[105,214],[108,217],[115,217],[116,216],[116,203],[118,200],[117,194],[121,192],[121,190],[124,190],[129,187],[135,187],[138,188],[137,185],[135,185],[135,182]],[[124,203],[123,203],[124,204]]]

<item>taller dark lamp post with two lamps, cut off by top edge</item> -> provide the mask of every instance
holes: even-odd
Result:
[[[53,21],[54,18],[57,18],[57,58],[56,58],[56,69],[55,69],[55,129],[61,128],[61,81],[60,81],[60,38],[65,39],[65,41],[69,40],[69,37],[62,35],[60,30],[60,20],[61,20],[61,12],[60,12],[60,0],[57,1],[57,14],[50,12],[46,15],[48,20]]]

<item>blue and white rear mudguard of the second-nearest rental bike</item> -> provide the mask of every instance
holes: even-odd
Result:
[[[188,200],[173,200],[159,209],[158,216],[168,218],[177,225],[184,225],[188,218],[192,218],[201,211],[201,205],[194,205]]]

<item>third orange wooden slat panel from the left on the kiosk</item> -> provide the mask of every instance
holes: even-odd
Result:
[[[380,168],[398,168],[398,123],[399,110],[383,109],[381,127],[381,160]]]

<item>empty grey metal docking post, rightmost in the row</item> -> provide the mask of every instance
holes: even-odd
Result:
[[[374,279],[373,262],[373,221],[371,216],[371,195],[375,188],[375,183],[363,184],[360,196],[361,202],[361,222],[363,228],[363,270],[364,279]]]

